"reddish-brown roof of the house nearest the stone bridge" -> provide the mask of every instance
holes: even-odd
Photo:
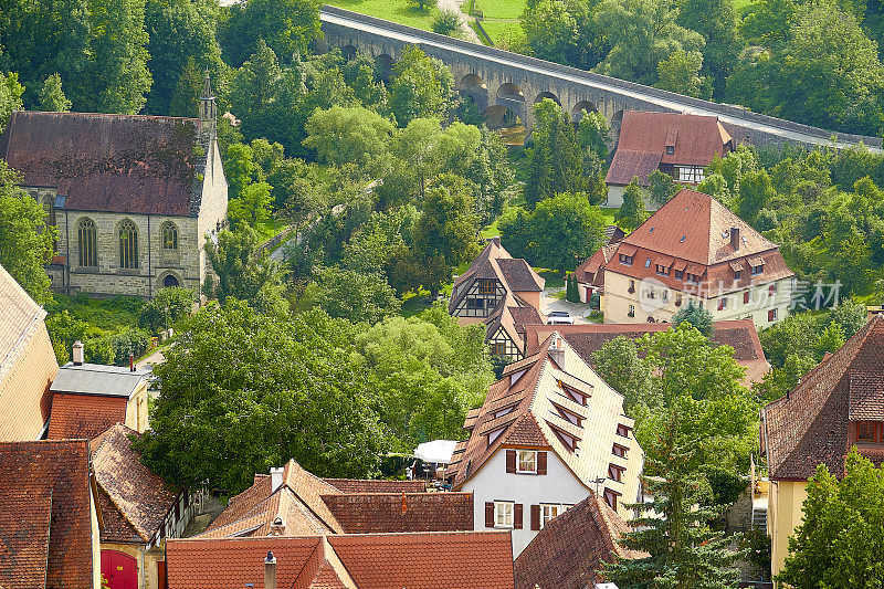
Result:
[[[666,146],[674,146],[672,155]],[[660,164],[705,167],[732,148],[733,139],[717,117],[625,111],[606,181],[628,185],[638,176],[646,183]],[[656,164],[651,167],[653,158]]]

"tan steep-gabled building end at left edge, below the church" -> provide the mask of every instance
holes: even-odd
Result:
[[[49,420],[59,365],[45,315],[0,266],[0,440],[36,440]]]

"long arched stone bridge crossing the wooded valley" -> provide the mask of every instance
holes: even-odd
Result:
[[[490,126],[518,116],[530,132],[532,105],[549,97],[572,117],[582,109],[603,114],[614,129],[624,109],[677,112],[717,116],[730,135],[756,146],[797,143],[831,146],[833,132],[665,92],[632,82],[593,74],[495,48],[452,39],[420,29],[367,17],[336,7],[319,11],[324,44],[340,48],[345,55],[357,51],[376,61],[381,71],[392,69],[406,45],[418,45],[438,57],[454,74],[457,90],[475,101]],[[863,143],[877,150],[878,137],[838,134],[835,146]]]

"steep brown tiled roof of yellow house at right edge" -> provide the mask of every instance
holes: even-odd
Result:
[[[853,445],[850,422],[884,421],[884,317],[875,316],[811,370],[786,397],[761,410],[771,480],[807,480],[818,464],[841,477]],[[880,449],[860,452],[881,464]]]

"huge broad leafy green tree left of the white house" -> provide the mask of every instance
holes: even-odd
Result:
[[[376,474],[388,441],[351,337],[322,312],[276,317],[232,299],[201,309],[155,367],[160,395],[136,448],[171,482],[231,494],[288,459],[318,476]]]

